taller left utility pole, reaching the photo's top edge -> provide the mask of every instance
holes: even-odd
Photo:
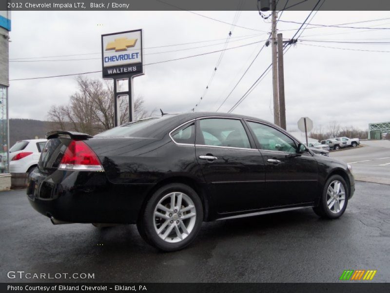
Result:
[[[273,123],[280,126],[279,95],[277,81],[277,48],[276,48],[276,0],[272,0],[272,85],[273,85]]]

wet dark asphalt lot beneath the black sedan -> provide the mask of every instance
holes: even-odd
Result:
[[[134,225],[54,226],[31,208],[25,189],[0,192],[0,281],[340,282],[344,270],[360,269],[377,270],[364,282],[389,282],[389,196],[387,185],[357,182],[340,219],[303,209],[204,223],[190,247],[163,253]],[[10,279],[10,271],[45,273],[46,279]],[[49,273],[62,275],[47,279]]]

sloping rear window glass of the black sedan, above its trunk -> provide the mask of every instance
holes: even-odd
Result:
[[[137,132],[140,132],[143,129],[146,129],[147,127],[150,127],[152,125],[155,125],[159,123],[160,119],[157,117],[138,120],[135,122],[131,122],[122,126],[117,126],[114,128],[111,128],[109,130],[103,131],[95,137],[131,137],[131,136],[137,136]]]

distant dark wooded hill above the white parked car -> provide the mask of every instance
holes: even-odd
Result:
[[[45,138],[45,133],[54,130],[50,121],[32,119],[10,119],[9,120],[9,144],[13,146],[17,141],[23,139]]]

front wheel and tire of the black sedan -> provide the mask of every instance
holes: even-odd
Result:
[[[332,175],[325,183],[318,207],[314,212],[323,218],[336,219],[340,217],[348,205],[349,188],[344,178]]]

